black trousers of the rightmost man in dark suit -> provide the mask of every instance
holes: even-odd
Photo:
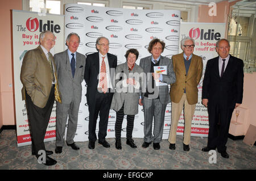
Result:
[[[208,148],[219,152],[226,151],[228,141],[229,125],[234,111],[234,106],[225,106],[222,103],[208,104],[209,134]]]

